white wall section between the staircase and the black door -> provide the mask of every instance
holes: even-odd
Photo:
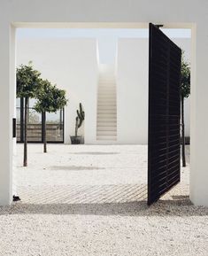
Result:
[[[119,144],[147,144],[148,40],[119,39],[117,138]]]

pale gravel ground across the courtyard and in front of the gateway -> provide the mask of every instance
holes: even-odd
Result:
[[[0,255],[208,255],[208,208],[181,183],[146,206],[147,147],[29,144],[21,202],[0,207]]]

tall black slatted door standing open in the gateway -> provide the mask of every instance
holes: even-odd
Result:
[[[181,49],[150,24],[148,205],[180,182]]]

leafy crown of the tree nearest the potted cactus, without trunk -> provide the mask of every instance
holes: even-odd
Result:
[[[64,89],[58,89],[50,81],[42,80],[42,87],[38,91],[37,102],[34,106],[36,112],[57,112],[66,103]]]

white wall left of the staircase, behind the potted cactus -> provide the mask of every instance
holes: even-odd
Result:
[[[81,102],[86,117],[79,134],[85,142],[96,140],[97,60],[95,39],[20,38],[17,42],[17,65],[28,64],[42,77],[66,90],[65,143],[74,136],[76,110]]]

